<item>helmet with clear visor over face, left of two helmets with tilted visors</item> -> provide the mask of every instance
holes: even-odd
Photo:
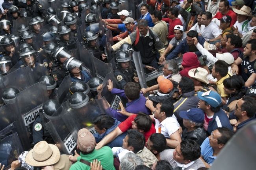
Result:
[[[36,51],[33,48],[25,47],[20,50],[20,57],[26,66],[33,66],[35,64]],[[27,58],[27,59],[26,59]]]

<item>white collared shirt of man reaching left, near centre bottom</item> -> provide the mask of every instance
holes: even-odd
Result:
[[[162,133],[168,139],[170,139],[171,134],[176,132],[180,127],[180,124],[178,123],[174,114],[173,116],[164,119],[161,123],[158,121],[158,119],[155,119],[155,122],[156,132]]]

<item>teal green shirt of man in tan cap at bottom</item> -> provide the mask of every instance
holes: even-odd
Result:
[[[80,159],[92,162],[93,159],[98,159],[102,168],[105,170],[115,170],[114,157],[111,148],[108,146],[102,147],[100,150],[93,150],[91,154],[82,154],[77,158],[77,162],[70,166],[69,170],[90,170],[90,166],[80,162]]]

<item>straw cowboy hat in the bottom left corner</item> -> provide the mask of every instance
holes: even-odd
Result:
[[[57,146],[40,141],[28,152],[25,162],[31,166],[48,166],[59,161],[60,153]]]

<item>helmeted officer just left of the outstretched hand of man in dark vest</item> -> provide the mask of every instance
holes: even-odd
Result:
[[[107,61],[107,57],[104,54],[104,50],[98,44],[98,35],[91,31],[86,31],[83,35],[83,40],[85,42],[85,48],[93,52],[94,57],[102,61]]]

